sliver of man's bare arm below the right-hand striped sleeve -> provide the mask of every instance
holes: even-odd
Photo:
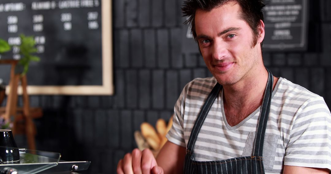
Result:
[[[292,173],[300,173],[300,174],[329,174],[330,170],[326,168],[311,168],[311,167],[299,167],[299,166],[290,166],[284,165],[283,174],[292,174]]]

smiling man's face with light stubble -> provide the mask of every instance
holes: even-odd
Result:
[[[237,3],[229,2],[209,12],[197,10],[195,14],[196,39],[201,54],[222,85],[254,77],[261,63],[263,65],[259,52],[262,40],[253,45],[252,30],[240,18],[240,10]]]

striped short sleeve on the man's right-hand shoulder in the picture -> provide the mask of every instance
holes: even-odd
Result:
[[[289,132],[284,165],[331,170],[331,114],[322,97],[304,103]]]

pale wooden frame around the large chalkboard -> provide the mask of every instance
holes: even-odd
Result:
[[[102,7],[102,85],[27,86],[29,95],[113,95],[112,0],[101,0]],[[105,16],[105,17],[104,17]],[[7,87],[9,88],[9,87]],[[7,90],[9,92],[10,89]],[[22,87],[18,93],[22,94]]]

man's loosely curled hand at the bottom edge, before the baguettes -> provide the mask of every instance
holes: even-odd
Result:
[[[127,153],[124,159],[119,160],[117,173],[163,174],[163,169],[156,163],[151,150],[145,149],[141,152],[139,149],[134,149],[132,153]]]

